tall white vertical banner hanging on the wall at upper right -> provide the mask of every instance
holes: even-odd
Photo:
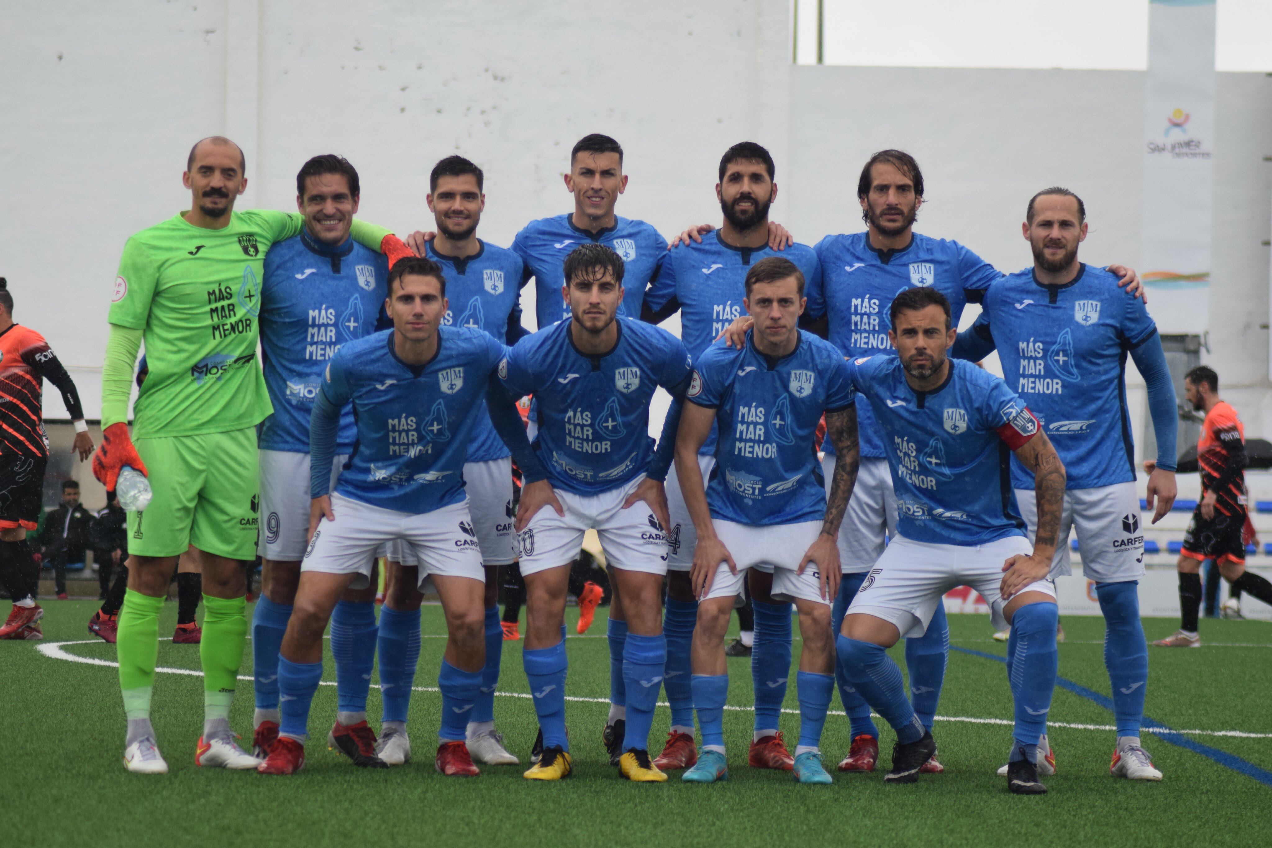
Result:
[[[1210,322],[1215,0],[1151,0],[1140,276],[1166,333]]]

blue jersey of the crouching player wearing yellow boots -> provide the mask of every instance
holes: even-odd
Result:
[[[520,339],[500,365],[514,397],[534,395],[534,449],[552,486],[567,492],[597,495],[644,474],[654,389],[683,392],[689,381],[681,339],[639,320],[616,323],[618,342],[604,356],[580,353],[562,320]]]

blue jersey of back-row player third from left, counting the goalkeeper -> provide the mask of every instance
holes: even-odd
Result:
[[[441,319],[443,325],[481,329],[506,343],[510,325],[518,323],[520,314],[516,311],[516,300],[522,282],[522,258],[487,242],[481,242],[481,249],[464,258],[438,253],[435,244],[436,242],[429,242],[429,258],[441,266],[441,273],[446,277],[446,300],[450,301],[450,309]],[[515,337],[511,341],[516,341]],[[468,445],[468,462],[485,463],[508,455],[508,445],[490,423],[490,412],[482,398]]]

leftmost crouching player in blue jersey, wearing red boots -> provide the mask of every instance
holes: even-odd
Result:
[[[441,596],[449,639],[438,685],[441,727],[436,767],[477,774],[464,745],[468,712],[485,662],[485,572],[464,495],[468,437],[504,346],[467,328],[439,327],[445,278],[430,259],[393,266],[385,308],[393,329],[346,342],[327,367],[309,425],[310,535],[300,584],[279,657],[279,740],[265,774],[304,765],[309,704],[322,678],[322,634],[346,589],[365,586],[377,548],[392,539],[412,547]],[[352,402],[357,450],[331,493],[340,411]],[[502,435],[520,434],[516,408],[502,393],[490,403]],[[506,427],[510,423],[511,427]]]

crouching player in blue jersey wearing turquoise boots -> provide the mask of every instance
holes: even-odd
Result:
[[[692,687],[702,753],[682,776],[688,782],[728,777],[724,636],[745,572],[763,563],[773,570],[771,596],[794,600],[803,636],[794,777],[831,783],[819,745],[834,693],[836,537],[856,477],[856,411],[843,356],[799,329],[804,305],[804,275],[795,263],[757,262],[743,300],[756,324],[742,348],[716,342],[698,357],[681,416],[675,462],[697,530],[692,580],[700,599]],[[829,498],[812,450],[823,412],[840,449]],[[717,422],[715,470],[705,484],[700,450]]]

